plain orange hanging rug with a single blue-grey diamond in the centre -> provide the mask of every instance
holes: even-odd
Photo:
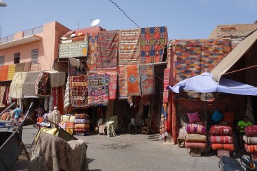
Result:
[[[140,96],[140,75],[138,65],[125,66],[125,91],[127,96]]]

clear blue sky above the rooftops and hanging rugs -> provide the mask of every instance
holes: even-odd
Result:
[[[69,29],[99,25],[108,30],[137,26],[109,0],[3,0],[0,7],[1,38],[58,21]],[[217,25],[252,24],[257,20],[257,0],[112,0],[139,27],[167,26],[169,40],[208,38]]]

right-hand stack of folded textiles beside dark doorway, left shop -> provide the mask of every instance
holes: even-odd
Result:
[[[76,135],[85,136],[89,132],[90,120],[87,114],[76,114],[74,131]]]

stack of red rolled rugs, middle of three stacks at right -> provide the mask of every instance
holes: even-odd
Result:
[[[212,149],[218,150],[218,157],[230,157],[230,151],[234,150],[232,133],[232,128],[226,125],[210,127],[210,142],[212,143]]]

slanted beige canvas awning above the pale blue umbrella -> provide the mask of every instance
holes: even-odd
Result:
[[[215,68],[212,69],[213,79],[219,82],[221,76],[227,72],[247,51],[252,47],[257,40],[257,31],[245,38],[240,44],[237,45]]]

